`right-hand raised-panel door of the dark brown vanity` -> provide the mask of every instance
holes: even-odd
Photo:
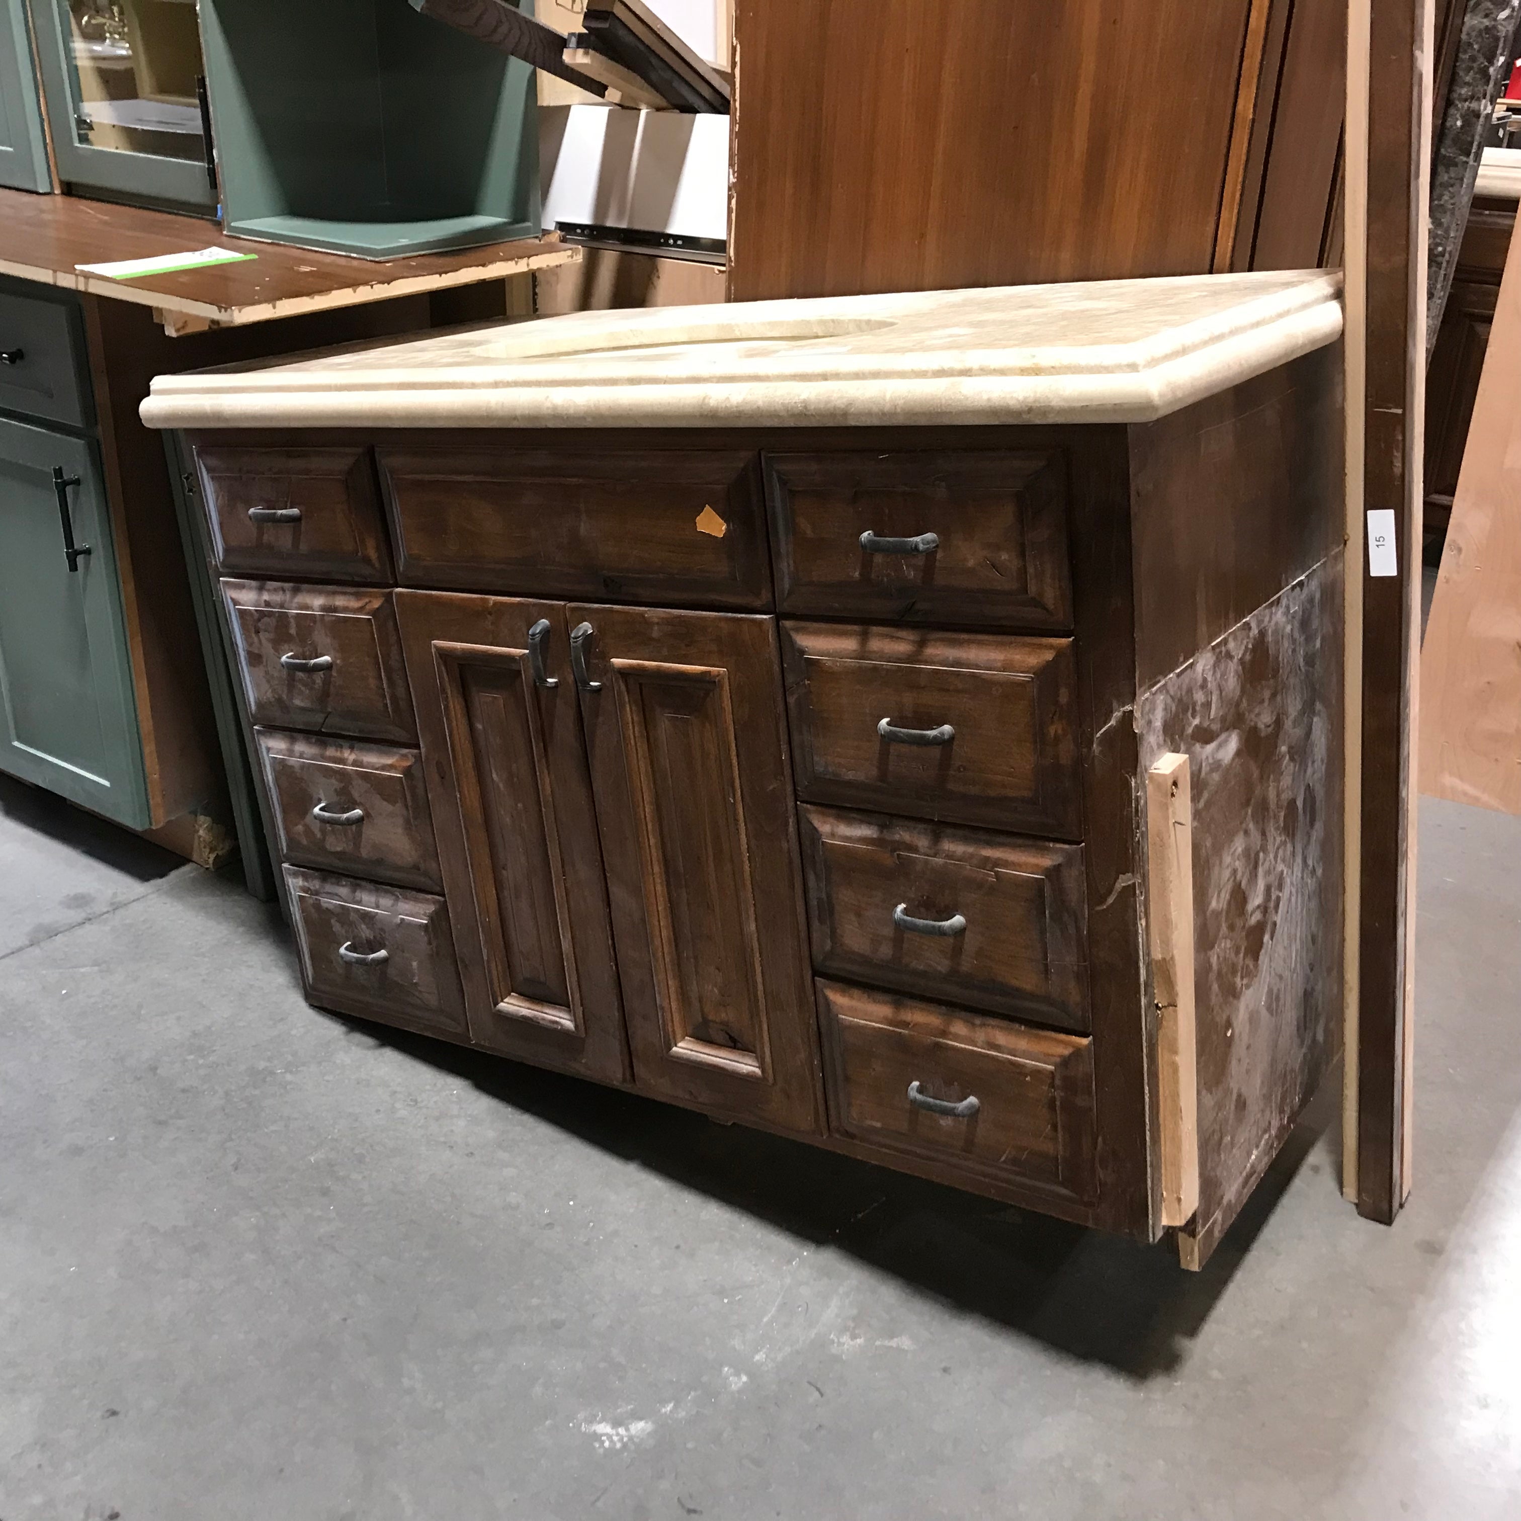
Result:
[[[776,624],[576,605],[567,621],[634,1078],[817,1132]]]

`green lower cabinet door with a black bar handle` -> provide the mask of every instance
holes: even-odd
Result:
[[[68,526],[53,472],[65,482]],[[88,554],[68,569],[67,534]],[[96,446],[0,420],[0,771],[152,823]]]

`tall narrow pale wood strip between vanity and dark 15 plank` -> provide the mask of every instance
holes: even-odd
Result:
[[[1358,923],[1363,864],[1363,408],[1367,395],[1367,97],[1370,90],[1372,0],[1349,0],[1346,47],[1346,129],[1343,172],[1343,303],[1346,330],[1346,602],[1345,645],[1346,788],[1342,1033],[1342,1192],[1357,1203],[1358,1015],[1361,1007]],[[1355,546],[1355,555],[1354,555]],[[1357,570],[1354,572],[1354,560]]]

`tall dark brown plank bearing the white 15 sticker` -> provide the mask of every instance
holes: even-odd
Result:
[[[1393,573],[1363,561],[1357,1206],[1410,1188],[1415,724],[1427,342],[1433,0],[1370,0],[1363,506],[1393,514]],[[1358,525],[1358,543],[1366,543]],[[1355,576],[1352,580],[1357,580]]]

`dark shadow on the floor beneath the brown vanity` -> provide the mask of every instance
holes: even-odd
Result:
[[[1142,1246],[637,1094],[329,1015],[614,1156],[829,1246],[1068,1357],[1176,1369],[1322,1133],[1332,1074],[1202,1273]],[[1319,1164],[1317,1164],[1319,1165]],[[1331,1185],[1334,1186],[1334,1183]]]

